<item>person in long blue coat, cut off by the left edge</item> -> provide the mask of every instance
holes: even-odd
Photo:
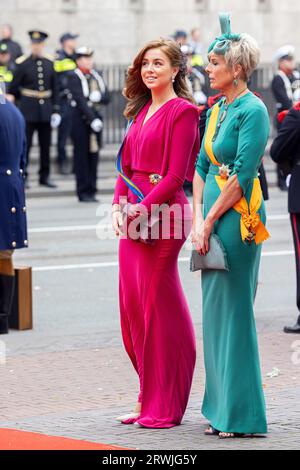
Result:
[[[0,334],[8,333],[14,290],[12,255],[27,247],[25,121],[14,104],[0,104]]]

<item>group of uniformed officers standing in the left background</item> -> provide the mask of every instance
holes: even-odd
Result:
[[[26,122],[26,187],[35,132],[40,151],[39,184],[56,187],[50,179],[50,145],[51,131],[57,128],[59,171],[64,175],[74,171],[79,201],[95,202],[103,128],[101,106],[108,104],[109,92],[101,72],[94,69],[94,51],[78,48],[78,35],[67,32],[52,57],[44,51],[46,32],[31,30],[28,35],[28,55],[22,54],[22,48],[13,40],[11,26],[2,27],[0,41],[0,74],[6,98],[18,106]],[[66,154],[69,137],[74,143],[72,163]]]

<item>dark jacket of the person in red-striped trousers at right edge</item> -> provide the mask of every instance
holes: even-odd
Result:
[[[300,107],[292,108],[283,120],[271,147],[276,163],[289,163],[291,180],[288,194],[289,212],[300,213]]]

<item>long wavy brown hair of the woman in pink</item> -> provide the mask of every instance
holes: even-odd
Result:
[[[141,77],[141,68],[144,56],[150,49],[162,49],[170,60],[172,67],[179,67],[175,77],[174,91],[180,98],[195,103],[193,95],[187,84],[187,67],[180,45],[172,39],[157,39],[148,42],[135,57],[133,64],[128,68],[123,96],[128,100],[124,116],[127,119],[135,118],[140,109],[151,99],[151,91],[144,84]]]

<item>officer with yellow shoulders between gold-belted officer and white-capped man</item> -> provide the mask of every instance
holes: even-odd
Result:
[[[61,114],[61,124],[58,129],[57,139],[57,163],[60,173],[65,175],[69,173],[68,161],[66,155],[67,138],[71,132],[71,99],[68,78],[72,71],[76,69],[75,49],[78,34],[64,33],[60,37],[61,49],[56,51],[54,69],[57,72],[59,84],[59,104]]]

